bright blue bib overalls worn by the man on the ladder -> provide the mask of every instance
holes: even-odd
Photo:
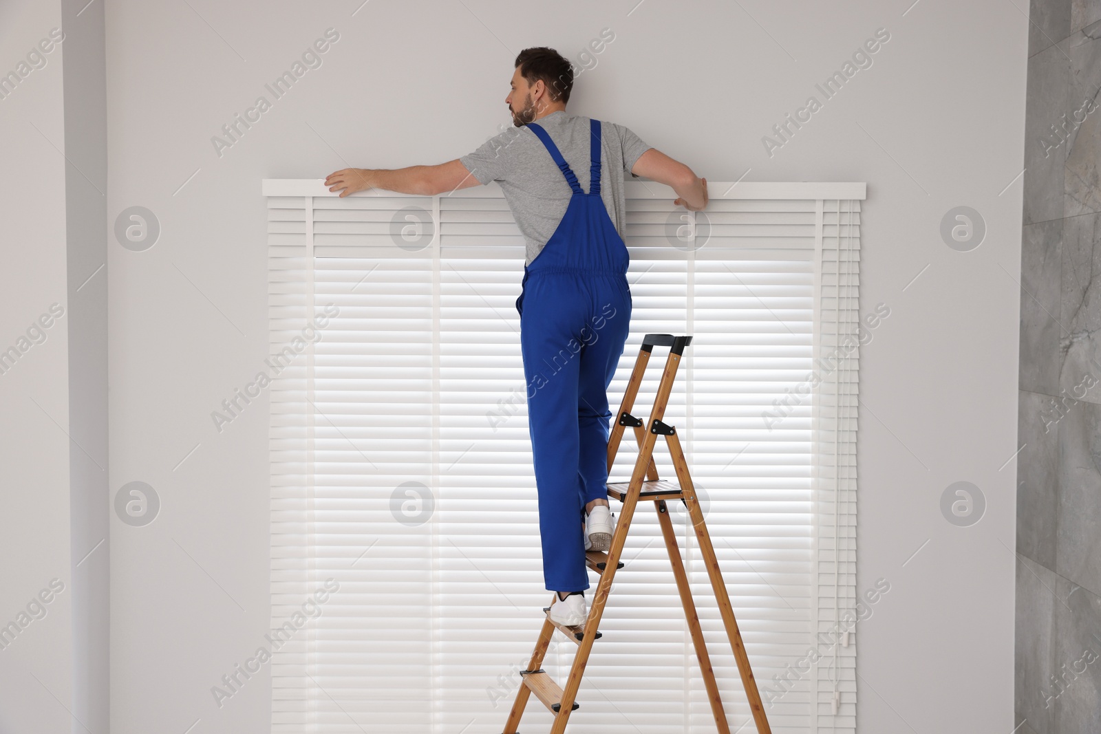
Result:
[[[548,591],[589,588],[585,505],[608,497],[608,385],[631,326],[630,261],[600,198],[600,121],[591,120],[589,193],[558,147],[527,123],[574,190],[566,215],[524,267],[520,344]]]

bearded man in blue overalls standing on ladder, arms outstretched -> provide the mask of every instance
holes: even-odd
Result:
[[[631,322],[621,171],[671,186],[691,211],[707,206],[707,180],[628,128],[568,114],[574,70],[553,48],[522,51],[511,86],[515,130],[477,151],[436,166],[345,168],[325,184],[341,197],[372,187],[432,196],[500,182],[527,251],[516,310],[543,577],[556,592],[550,618],[573,626],[587,617],[585,551],[608,550],[614,532],[607,391]],[[582,182],[575,171],[586,169]]]

